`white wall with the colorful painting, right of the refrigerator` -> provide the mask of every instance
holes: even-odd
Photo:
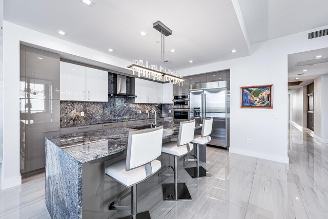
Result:
[[[306,40],[306,32],[259,42],[252,55],[179,71],[183,76],[230,69],[230,151],[288,163],[288,54],[328,46],[328,37]],[[193,64],[196,64],[194,60]],[[240,108],[240,86],[274,84],[273,109]],[[278,119],[269,119],[269,113]],[[251,144],[247,144],[251,139]]]

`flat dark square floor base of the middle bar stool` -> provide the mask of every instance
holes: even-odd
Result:
[[[186,183],[178,183],[177,186],[177,199],[174,197],[174,183],[162,184],[163,200],[164,201],[177,201],[177,200],[191,200]]]

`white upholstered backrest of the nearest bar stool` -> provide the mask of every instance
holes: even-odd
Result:
[[[163,126],[129,133],[126,170],[158,158],[161,154]]]

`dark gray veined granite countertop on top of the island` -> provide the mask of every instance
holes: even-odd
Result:
[[[179,123],[161,122],[163,140],[176,138],[179,133]],[[137,125],[142,126],[142,125]],[[128,146],[128,134],[135,131],[133,127],[119,127],[106,130],[95,130],[85,133],[74,133],[47,138],[53,144],[67,152],[80,163],[96,160],[124,151]],[[201,124],[196,124],[196,129]]]

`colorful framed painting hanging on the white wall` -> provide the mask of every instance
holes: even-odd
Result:
[[[273,108],[272,84],[243,86],[241,89],[241,108]]]

